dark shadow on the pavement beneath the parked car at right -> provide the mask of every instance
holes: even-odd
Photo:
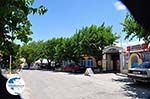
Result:
[[[134,83],[127,77],[113,79],[113,81],[124,83],[121,88],[127,97],[132,99],[150,99],[150,83]]]

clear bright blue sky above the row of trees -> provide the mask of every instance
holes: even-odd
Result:
[[[29,16],[35,41],[70,37],[76,29],[103,22],[112,25],[114,33],[121,34],[120,23],[127,13],[118,0],[35,0],[34,6],[40,5],[46,6],[48,12],[43,16]]]

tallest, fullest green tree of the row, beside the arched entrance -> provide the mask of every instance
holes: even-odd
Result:
[[[105,26],[103,23],[100,26],[83,27],[75,33],[72,39],[73,55],[77,55],[79,59],[79,56],[86,54],[95,57],[98,61],[102,59],[104,47],[114,44],[118,37],[112,33],[111,26]]]

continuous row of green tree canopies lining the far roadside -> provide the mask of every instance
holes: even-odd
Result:
[[[112,45],[118,39],[117,35],[112,32],[111,26],[91,25],[83,27],[75,32],[70,38],[52,38],[45,42],[32,42],[24,45],[24,49],[31,50],[31,56],[35,59],[46,58],[47,60],[62,62],[63,60],[73,60],[78,63],[82,55],[89,55],[99,60],[102,58],[102,50],[104,47]],[[36,44],[35,44],[36,43]],[[41,46],[44,46],[42,47]],[[29,46],[34,48],[29,49]],[[35,46],[36,45],[36,46]],[[34,49],[34,52],[32,50]],[[26,51],[25,51],[26,52]],[[36,53],[36,54],[35,54]],[[22,56],[29,55],[22,53]],[[42,57],[35,57],[34,55]],[[27,56],[26,58],[29,58]],[[33,60],[32,60],[33,61]]]

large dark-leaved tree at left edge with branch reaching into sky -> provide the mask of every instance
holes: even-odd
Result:
[[[14,40],[27,43],[31,40],[31,23],[29,14],[43,15],[44,6],[33,8],[34,0],[1,0],[0,3],[0,50],[5,56],[15,55]],[[11,49],[11,50],[10,50]]]

